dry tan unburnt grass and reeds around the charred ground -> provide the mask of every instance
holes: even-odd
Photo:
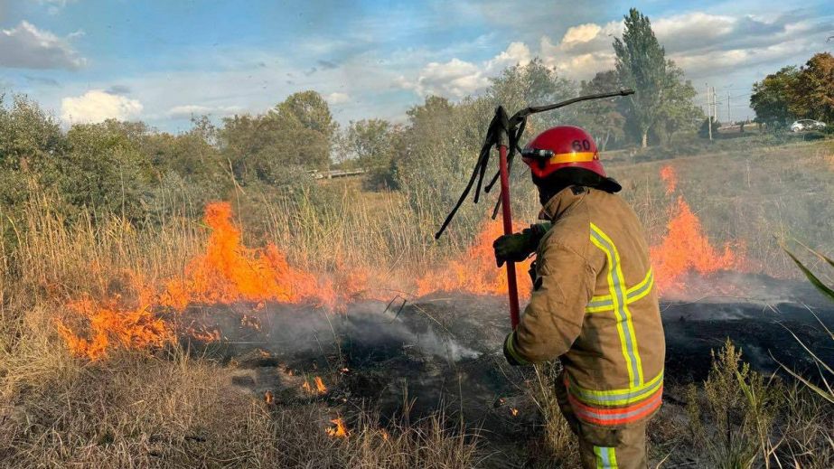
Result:
[[[714,239],[746,239],[748,256],[774,274],[794,276],[776,252],[774,233],[791,232],[822,251],[831,249],[830,233],[814,224],[811,209],[828,210],[820,204],[834,200],[831,178],[824,177],[834,152],[828,146],[809,148],[814,150],[782,166],[784,149],[661,164],[678,167],[681,181],[698,181],[682,183],[682,189]],[[611,169],[652,235],[662,233],[670,202],[657,177],[661,164]],[[763,183],[739,186],[747,172],[750,181]],[[802,189],[794,197],[785,197],[785,188],[797,187]],[[518,219],[534,220],[530,188],[515,193]],[[380,277],[403,285],[426,266],[459,255],[483,220],[464,216],[437,243],[431,235],[440,220],[428,215],[436,210],[411,207],[398,193],[368,195],[334,184],[322,194],[291,198],[238,194],[235,203],[250,245],[273,240],[296,265],[314,271],[374,267]],[[8,220],[4,216],[2,222]],[[181,351],[156,357],[122,352],[94,364],[74,359],[54,327],[67,301],[82,293],[122,292],[128,271],[142,272],[149,282],[182,272],[201,249],[205,227],[171,216],[136,230],[117,216],[93,223],[89,213],[69,223],[49,197],[36,192],[18,220],[23,221],[6,230],[16,236],[0,252],[0,464],[473,467],[483,462],[479,438],[459,424],[448,425],[442,415],[389,427],[388,438],[366,415],[348,422],[350,438],[333,439],[323,432],[331,409],[267,407],[230,384],[233,370]],[[552,396],[553,372],[539,370],[530,391],[547,417],[547,450],[539,459],[570,466],[576,443]],[[770,432],[769,444],[778,444],[773,457],[783,465],[834,465],[831,409],[799,389],[784,390],[783,396]]]

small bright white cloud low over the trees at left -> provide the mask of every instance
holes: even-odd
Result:
[[[61,99],[61,118],[71,124],[102,122],[108,118],[127,120],[142,112],[138,99],[91,89],[78,97]]]

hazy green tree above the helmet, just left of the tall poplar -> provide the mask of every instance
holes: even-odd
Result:
[[[582,81],[580,94],[595,94],[620,88],[617,73],[614,70],[600,71],[593,80]],[[596,145],[604,150],[608,141],[617,141],[624,136],[625,117],[618,108],[617,98],[595,99],[587,101],[578,109],[577,120],[596,140]]]

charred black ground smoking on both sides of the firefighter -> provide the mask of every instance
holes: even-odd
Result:
[[[800,284],[778,286],[793,294],[777,295],[778,288],[768,286],[770,300],[784,301],[662,302],[667,380],[705,379],[710,351],[727,337],[756,370],[778,370],[775,359],[816,374],[808,352],[788,330],[820,359],[834,362],[834,342],[812,314],[834,329],[834,307]],[[808,295],[811,305],[793,301],[796,292]],[[501,355],[509,331],[503,298],[438,294],[402,307],[355,303],[343,314],[309,306],[252,306],[195,306],[183,315],[183,325],[221,331],[220,342],[192,344],[252,371],[241,384],[270,390],[279,402],[323,399],[342,410],[376,409],[382,418],[401,417],[404,407],[411,417],[446,408],[505,439],[524,438],[524,429],[537,418],[523,396],[522,381],[532,373],[508,366]],[[306,374],[321,376],[329,391],[306,395],[300,389]],[[520,413],[513,417],[510,409],[516,407]]]

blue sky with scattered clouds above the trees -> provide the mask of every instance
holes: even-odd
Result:
[[[428,94],[483,92],[536,56],[574,80],[608,70],[630,6],[698,90],[716,87],[721,120],[727,94],[730,117],[743,118],[754,80],[834,47],[834,3],[813,0],[0,0],[0,88],[66,123],[117,117],[166,131],[192,114],[263,112],[304,89],[343,124],[401,120]]]

